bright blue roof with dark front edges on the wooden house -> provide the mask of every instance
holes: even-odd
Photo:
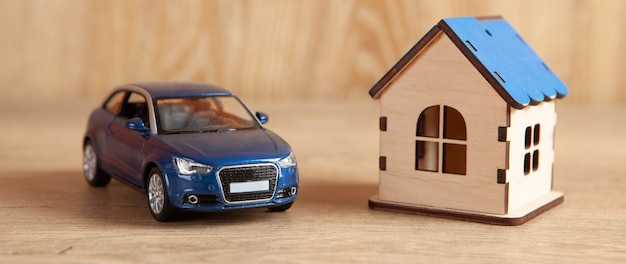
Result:
[[[443,31],[498,94],[521,109],[568,93],[565,84],[501,17],[460,17],[441,20],[370,89],[374,98],[420,50]]]

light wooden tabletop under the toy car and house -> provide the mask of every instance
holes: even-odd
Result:
[[[0,105],[0,262],[626,262],[626,108],[558,105],[554,188],[565,202],[503,227],[369,209],[370,100],[249,102],[296,152],[294,206],[156,222],[143,194],[83,180],[80,139],[94,105]]]

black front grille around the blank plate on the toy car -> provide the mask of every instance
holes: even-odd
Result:
[[[270,200],[276,190],[278,167],[268,164],[253,164],[223,167],[218,171],[224,199],[228,203]],[[250,192],[231,192],[231,183],[269,182],[269,190]]]

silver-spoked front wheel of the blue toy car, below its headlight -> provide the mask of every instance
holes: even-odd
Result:
[[[150,169],[146,191],[148,194],[148,208],[152,217],[161,222],[174,219],[177,210],[170,204],[165,180],[158,168]]]

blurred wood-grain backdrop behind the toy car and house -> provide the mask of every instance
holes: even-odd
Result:
[[[367,91],[442,17],[503,15],[570,87],[626,104],[626,1],[0,0],[0,102],[195,80],[250,98]]]

